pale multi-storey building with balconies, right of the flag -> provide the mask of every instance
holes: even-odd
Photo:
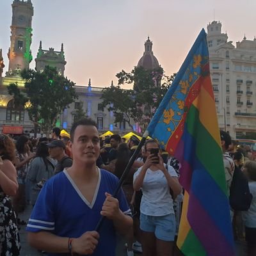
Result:
[[[220,129],[232,138],[256,132],[256,38],[236,46],[221,32],[221,22],[207,26],[207,41]]]

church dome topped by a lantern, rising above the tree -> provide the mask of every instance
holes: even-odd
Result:
[[[140,58],[137,67],[143,67],[146,70],[159,68],[158,60],[152,52],[153,43],[152,41],[150,41],[149,37],[144,45],[145,45],[145,52],[143,53],[143,56]]]

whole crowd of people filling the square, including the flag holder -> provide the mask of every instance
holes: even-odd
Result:
[[[127,256],[182,255],[175,243],[184,193],[179,161],[147,140],[114,198],[139,138],[100,138],[90,118],[72,125],[70,135],[60,132],[52,129],[51,140],[0,136],[0,255],[19,255],[20,225],[27,225],[29,244],[49,255],[112,256],[116,234],[125,237]],[[234,238],[256,255],[256,162],[227,132],[220,137],[228,194],[237,168],[252,194],[247,211],[230,207]],[[27,205],[31,217],[20,220]]]

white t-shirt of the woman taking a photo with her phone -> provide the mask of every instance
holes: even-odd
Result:
[[[133,182],[138,177],[141,169],[142,166],[134,173]],[[172,177],[178,177],[172,166],[168,166],[168,173]],[[161,170],[152,171],[148,168],[141,189],[143,196],[141,198],[140,211],[143,214],[150,216],[174,214],[170,188]]]

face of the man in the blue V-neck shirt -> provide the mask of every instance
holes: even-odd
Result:
[[[100,154],[100,138],[93,125],[78,125],[74,131],[74,140],[70,141],[74,161],[96,163]]]

